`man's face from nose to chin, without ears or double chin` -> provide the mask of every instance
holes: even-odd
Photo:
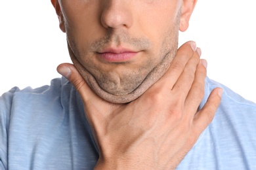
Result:
[[[67,33],[75,67],[81,75],[93,76],[104,92],[132,93],[153,71],[160,78],[176,54],[182,1],[59,0],[59,4],[60,27]]]

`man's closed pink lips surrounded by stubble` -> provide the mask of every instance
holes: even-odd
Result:
[[[135,58],[139,52],[126,49],[126,48],[108,48],[102,52],[97,52],[104,62],[119,63],[129,61]]]

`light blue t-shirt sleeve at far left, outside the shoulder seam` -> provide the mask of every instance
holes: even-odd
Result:
[[[11,117],[12,99],[19,88],[12,88],[0,96],[0,169],[7,169],[8,162],[8,133]]]

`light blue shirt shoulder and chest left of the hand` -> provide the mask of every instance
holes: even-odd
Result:
[[[85,124],[83,103],[77,101],[78,94],[66,78],[4,93],[0,97],[0,167],[1,163],[10,169],[21,164],[24,169],[93,167],[93,138]]]

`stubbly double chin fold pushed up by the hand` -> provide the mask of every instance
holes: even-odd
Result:
[[[173,52],[168,52],[167,54],[165,54],[160,63],[158,63],[156,67],[149,71],[147,75],[141,75],[143,77],[139,82],[135,83],[127,81],[126,84],[121,84],[121,88],[116,88],[115,90],[115,88],[111,87],[112,84],[108,84],[108,82],[104,81],[102,82],[102,80],[97,81],[96,78],[100,79],[100,76],[93,75],[85,67],[83,67],[83,65],[74,56],[74,53],[72,52],[70,46],[68,46],[68,48],[70,52],[70,57],[75,67],[77,68],[77,71],[79,71],[81,76],[83,76],[85,82],[87,82],[91,90],[93,90],[93,92],[95,92],[96,95],[98,95],[100,98],[104,99],[105,101],[109,101],[110,103],[129,103],[140,97],[140,95],[146,92],[146,90],[148,90],[150,86],[152,86],[156,81],[161,78],[161,76],[163,76],[163,74],[169,68],[169,65],[174,56]],[[108,73],[102,73],[103,76],[104,74]],[[123,78],[125,79],[126,77],[123,76]],[[137,77],[129,78],[127,77],[127,79],[129,79],[130,81],[135,81],[135,78]],[[133,84],[133,86],[131,86],[131,84]]]

